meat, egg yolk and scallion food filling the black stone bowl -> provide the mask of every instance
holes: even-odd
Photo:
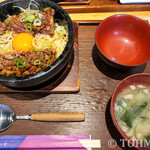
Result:
[[[68,41],[66,22],[51,7],[23,9],[0,22],[0,74],[25,76],[50,66]]]

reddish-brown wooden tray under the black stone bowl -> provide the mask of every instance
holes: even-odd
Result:
[[[74,24],[73,54],[66,67],[50,81],[28,90],[16,90],[0,84],[0,93],[75,93],[80,89],[79,50],[78,50],[78,24]]]

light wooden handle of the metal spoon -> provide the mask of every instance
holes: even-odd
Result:
[[[31,120],[38,121],[84,121],[83,113],[42,113],[32,114]]]

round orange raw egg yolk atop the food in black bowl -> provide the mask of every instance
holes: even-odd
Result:
[[[13,41],[12,41],[12,46],[13,49],[16,51],[30,51],[32,46],[32,40],[34,39],[32,34],[29,33],[19,33],[17,34]]]

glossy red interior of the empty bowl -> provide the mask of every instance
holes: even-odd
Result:
[[[114,15],[97,28],[96,44],[103,55],[123,65],[138,65],[150,59],[150,27],[130,15]]]

